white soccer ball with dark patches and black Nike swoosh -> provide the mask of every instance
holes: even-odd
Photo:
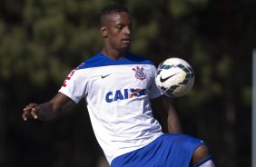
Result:
[[[169,58],[157,68],[155,83],[168,97],[181,97],[190,92],[194,73],[190,64],[181,58]]]

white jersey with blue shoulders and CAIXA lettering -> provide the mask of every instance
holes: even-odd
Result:
[[[142,57],[127,53],[112,60],[99,53],[75,68],[59,90],[75,103],[85,98],[96,139],[109,163],[162,135],[150,104],[150,99],[162,95],[155,74],[152,62]]]

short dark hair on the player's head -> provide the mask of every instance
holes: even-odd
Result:
[[[104,15],[110,15],[116,12],[126,12],[129,14],[129,10],[124,5],[108,5],[102,9],[100,25],[104,25]]]

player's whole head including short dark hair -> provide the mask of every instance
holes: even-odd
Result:
[[[118,51],[125,51],[129,48],[133,24],[131,15],[125,6],[104,7],[100,24],[105,46]]]

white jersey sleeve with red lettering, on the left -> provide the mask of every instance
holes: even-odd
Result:
[[[84,97],[86,92],[86,80],[84,74],[80,70],[74,69],[65,79],[60,93],[64,93],[71,98],[75,103]]]

